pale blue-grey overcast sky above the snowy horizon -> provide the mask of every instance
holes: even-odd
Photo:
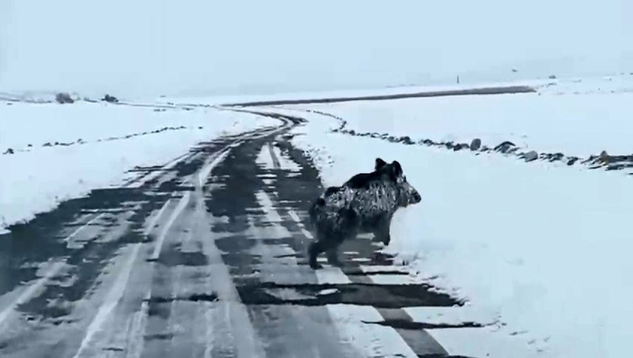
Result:
[[[633,71],[630,0],[0,2],[0,90],[151,96]]]

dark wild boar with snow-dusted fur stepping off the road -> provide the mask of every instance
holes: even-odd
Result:
[[[322,252],[327,252],[331,264],[340,265],[339,246],[358,233],[373,233],[389,245],[394,213],[421,200],[398,161],[386,163],[376,158],[374,171],[354,175],[341,187],[327,188],[313,202],[309,214],[316,240],[308,250],[310,266],[321,267],[316,257]]]

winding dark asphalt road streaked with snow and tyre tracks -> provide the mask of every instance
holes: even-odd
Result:
[[[462,302],[412,281],[382,244],[346,242],[345,268],[309,268],[318,172],[287,141],[301,119],[260,114],[282,124],[9,228],[0,356],[458,357],[426,330],[477,324],[414,321],[409,307]]]

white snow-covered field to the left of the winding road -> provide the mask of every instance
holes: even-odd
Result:
[[[0,102],[0,230],[94,188],[120,185],[130,178],[126,171],[135,166],[165,164],[203,140],[278,123],[213,108],[156,112],[88,102],[11,106]],[[180,126],[185,128],[104,141]],[[78,139],[86,143],[42,146]],[[1,154],[8,148],[15,154]]]

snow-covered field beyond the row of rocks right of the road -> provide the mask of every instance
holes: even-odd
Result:
[[[564,80],[538,93],[303,104],[348,121],[356,132],[494,147],[510,140],[537,152],[588,157],[633,153],[633,76]],[[611,93],[613,91],[614,93]]]

